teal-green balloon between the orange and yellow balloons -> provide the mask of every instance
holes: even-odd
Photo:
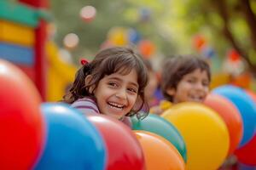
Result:
[[[163,117],[154,114],[149,114],[141,121],[137,120],[137,118],[133,116],[131,117],[131,122],[133,130],[144,130],[156,133],[167,139],[176,147],[180,155],[183,156],[184,161],[187,161],[187,150],[183,137],[172,123],[166,121]]]

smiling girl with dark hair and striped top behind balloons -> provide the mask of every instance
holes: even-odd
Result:
[[[102,113],[121,121],[125,116],[148,115],[148,111],[138,113],[147,105],[147,68],[131,48],[103,49],[90,63],[83,60],[82,64],[65,102],[84,114]]]

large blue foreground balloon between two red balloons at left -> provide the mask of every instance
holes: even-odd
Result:
[[[79,111],[65,104],[43,104],[47,139],[35,169],[90,169],[106,167],[102,136]]]

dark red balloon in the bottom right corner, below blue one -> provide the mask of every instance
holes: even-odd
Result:
[[[235,151],[239,161],[250,166],[256,166],[256,134],[247,144]]]

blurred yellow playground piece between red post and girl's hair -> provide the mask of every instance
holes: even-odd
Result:
[[[54,42],[46,45],[47,55],[47,101],[60,101],[67,88],[73,83],[77,68],[61,59],[59,50]]]

